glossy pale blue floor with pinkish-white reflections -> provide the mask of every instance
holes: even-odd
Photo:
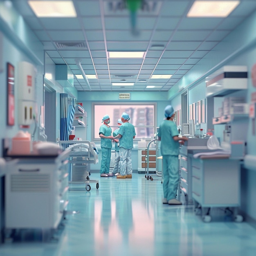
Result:
[[[69,191],[57,241],[0,245],[1,256],[255,256],[256,229],[221,216],[209,223],[192,205],[162,204],[161,177],[99,177],[99,189]],[[74,186],[73,186],[74,188]],[[183,198],[181,198],[183,200]],[[75,213],[72,213],[74,211]]]

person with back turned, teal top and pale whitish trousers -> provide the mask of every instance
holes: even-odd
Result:
[[[132,148],[136,133],[129,120],[129,115],[123,112],[121,115],[123,124],[119,128],[118,135],[113,137],[119,139],[120,149],[120,175],[117,176],[117,179],[132,178]]]

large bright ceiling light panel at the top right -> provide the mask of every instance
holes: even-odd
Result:
[[[187,17],[227,17],[240,1],[195,1]]]

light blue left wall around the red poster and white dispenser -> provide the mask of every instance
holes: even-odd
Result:
[[[40,106],[43,105],[43,45],[31,33],[23,18],[13,9],[8,9],[0,2],[0,139],[11,138],[20,127],[18,125],[18,63],[27,61],[36,67],[35,100],[37,102],[37,119],[40,115]],[[7,126],[7,63],[15,69],[15,125]],[[34,124],[26,129],[31,134]],[[0,148],[2,155],[2,147]]]

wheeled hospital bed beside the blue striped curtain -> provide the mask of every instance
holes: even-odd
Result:
[[[88,164],[97,164],[99,162],[96,145],[87,140],[57,141],[61,144],[70,144],[65,150],[70,151],[69,156],[69,184],[85,185],[85,190],[90,191],[90,183],[96,183],[96,189],[99,188],[99,180],[90,180]],[[83,190],[84,188],[82,188]],[[70,190],[81,190],[78,187],[70,186]]]

